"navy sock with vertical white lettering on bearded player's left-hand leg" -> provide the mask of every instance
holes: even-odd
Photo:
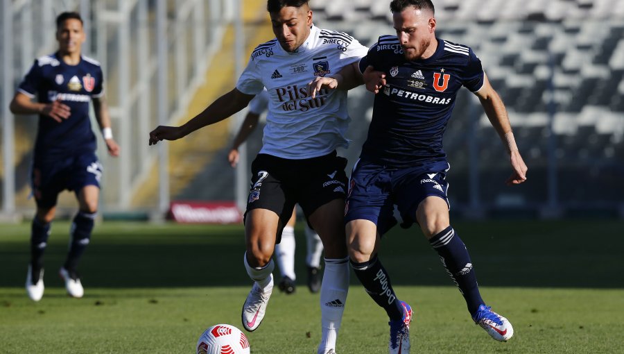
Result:
[[[390,277],[388,272],[383,269],[381,261],[375,255],[372,260],[363,263],[355,263],[351,261],[356,276],[370,297],[383,307],[391,320],[400,320],[403,318],[403,307],[397,301],[395,290],[390,285]]]

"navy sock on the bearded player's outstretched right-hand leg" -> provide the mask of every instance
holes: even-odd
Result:
[[[468,311],[474,314],[484,304],[466,245],[451,226],[429,239],[447,273],[453,279],[466,300]]]

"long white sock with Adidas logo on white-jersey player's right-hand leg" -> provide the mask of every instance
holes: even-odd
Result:
[[[322,337],[318,353],[336,349],[336,337],[343,321],[349,291],[349,258],[327,259],[320,291]]]

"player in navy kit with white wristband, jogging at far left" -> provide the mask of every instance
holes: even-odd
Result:
[[[58,194],[73,190],[79,210],[71,224],[67,259],[59,274],[67,293],[80,298],[83,285],[76,271],[94,226],[98,209],[102,166],[96,157],[96,136],[89,120],[93,101],[98,125],[108,152],[119,155],[113,140],[104,98],[100,64],[81,54],[85,42],[83,20],[76,12],[56,18],[58,51],[35,60],[10,103],[16,115],[39,115],[39,128],[31,174],[37,212],[31,230],[31,262],[26,291],[33,301],[44,292],[43,255],[56,211]],[[37,101],[33,99],[37,97]]]

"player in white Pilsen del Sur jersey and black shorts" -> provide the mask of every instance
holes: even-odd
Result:
[[[254,285],[243,305],[243,326],[255,330],[264,317],[273,288],[271,256],[298,203],[325,252],[318,353],[336,353],[349,287],[343,224],[347,161],[336,156],[336,148],[348,145],[346,90],[363,82],[361,77],[348,76],[358,82],[345,79],[343,90],[320,90],[315,97],[310,96],[308,85],[316,76],[335,74],[344,67],[357,70],[367,48],[345,33],[314,26],[308,1],[268,0],[267,10],[276,38],[253,51],[236,88],[182,126],[158,126],[150,133],[150,144],[177,140],[222,121],[266,87],[267,124],[263,147],[252,163],[245,212],[243,261]]]

